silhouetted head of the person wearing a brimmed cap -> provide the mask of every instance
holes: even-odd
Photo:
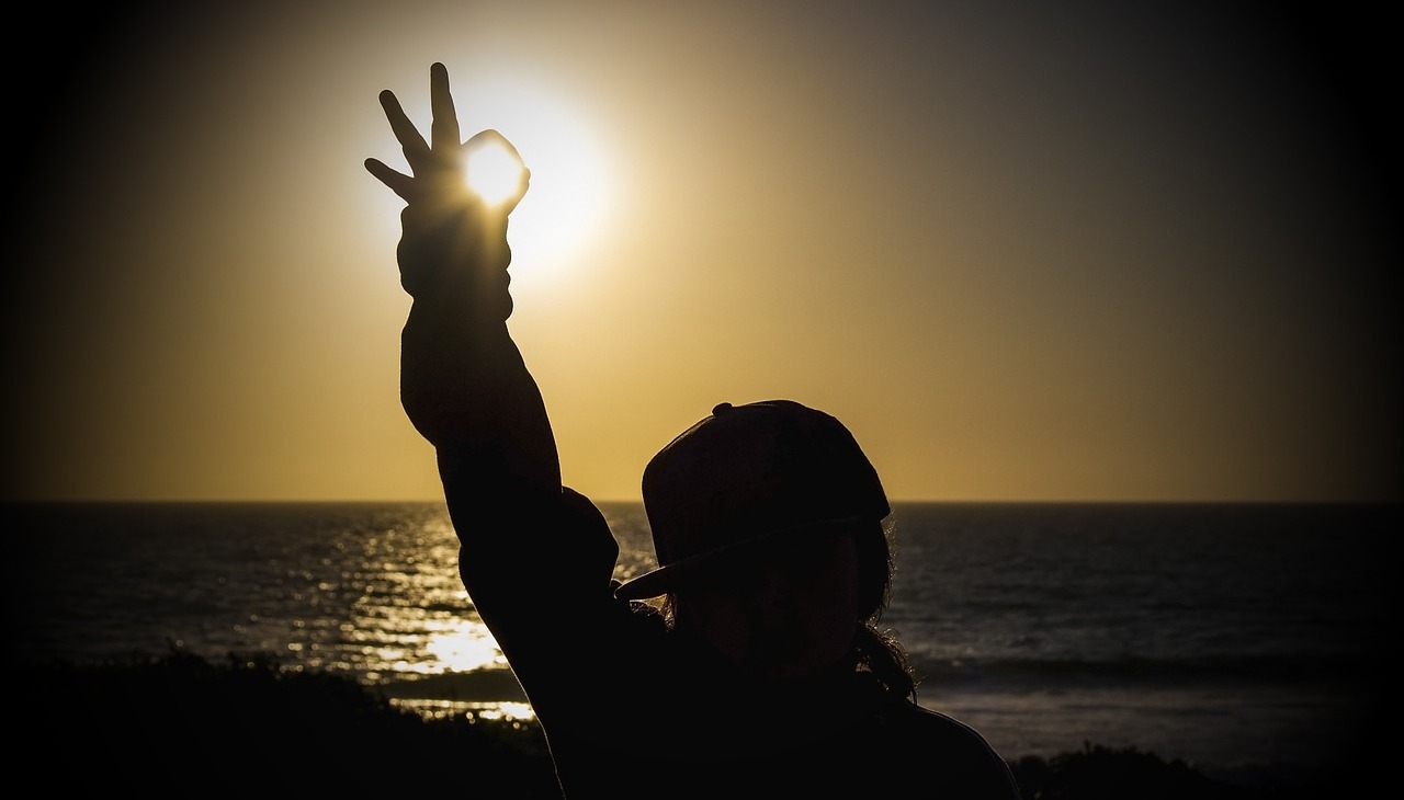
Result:
[[[892,578],[890,507],[834,417],[790,400],[722,403],[649,462],[643,502],[658,568],[618,596],[663,596],[674,627],[757,676],[854,658],[904,668],[875,627]]]

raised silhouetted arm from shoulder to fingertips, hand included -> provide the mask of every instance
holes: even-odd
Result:
[[[517,191],[504,201],[469,191],[475,147],[517,150],[493,131],[459,142],[444,65],[430,79],[430,142],[396,97],[380,93],[413,174],[365,163],[407,204],[397,255],[414,302],[402,334],[400,400],[438,453],[463,585],[546,719],[587,702],[574,657],[608,636],[608,620],[632,615],[614,599],[618,545],[600,511],[562,486],[541,392],[507,330],[507,216],[528,171],[518,157]]]

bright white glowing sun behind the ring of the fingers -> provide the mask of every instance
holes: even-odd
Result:
[[[496,129],[531,170],[531,185],[508,227],[514,271],[548,271],[574,261],[612,204],[608,159],[588,116],[525,81],[455,80],[453,101],[465,139]],[[496,147],[483,147],[468,168],[476,174],[475,191],[489,202],[510,195],[518,177],[515,160]],[[489,185],[490,175],[500,175],[498,188]]]

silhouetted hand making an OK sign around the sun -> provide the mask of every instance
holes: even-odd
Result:
[[[442,63],[430,67],[430,107],[434,114],[430,136],[432,143],[424,142],[424,136],[406,116],[393,91],[380,93],[380,107],[385,108],[385,116],[390,121],[390,129],[395,131],[395,138],[404,149],[404,160],[410,164],[414,175],[393,170],[378,159],[366,159],[365,168],[409,204],[469,201],[470,198],[465,196],[465,160],[468,153],[476,147],[496,143],[521,163],[517,147],[497,131],[482,131],[468,142],[459,142],[458,112],[449,91],[448,69]],[[522,166],[517,192],[501,204],[494,204],[493,211],[504,216],[511,213],[526,194],[529,180],[531,170]]]

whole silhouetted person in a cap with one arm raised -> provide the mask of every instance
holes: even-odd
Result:
[[[507,216],[529,173],[500,205],[475,196],[465,150],[510,145],[491,131],[461,142],[448,73],[430,77],[428,143],[380,93],[413,177],[365,163],[407,202],[402,400],[437,451],[463,584],[566,796],[1019,797],[979,733],[915,703],[906,651],[876,627],[889,504],[834,417],[716,406],[644,469],[660,567],[612,578],[618,545],[562,484],[507,330]]]

